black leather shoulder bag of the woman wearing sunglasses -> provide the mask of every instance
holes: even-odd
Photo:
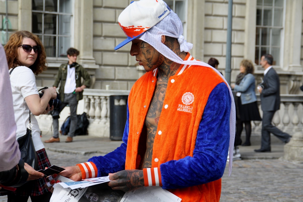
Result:
[[[14,68],[9,72],[11,75]],[[17,139],[19,144],[19,150],[21,152],[21,158],[25,163],[32,166],[35,170],[38,169],[38,159],[35,146],[32,139],[32,124],[31,124],[31,111],[29,111],[28,127],[26,128],[26,134]]]

